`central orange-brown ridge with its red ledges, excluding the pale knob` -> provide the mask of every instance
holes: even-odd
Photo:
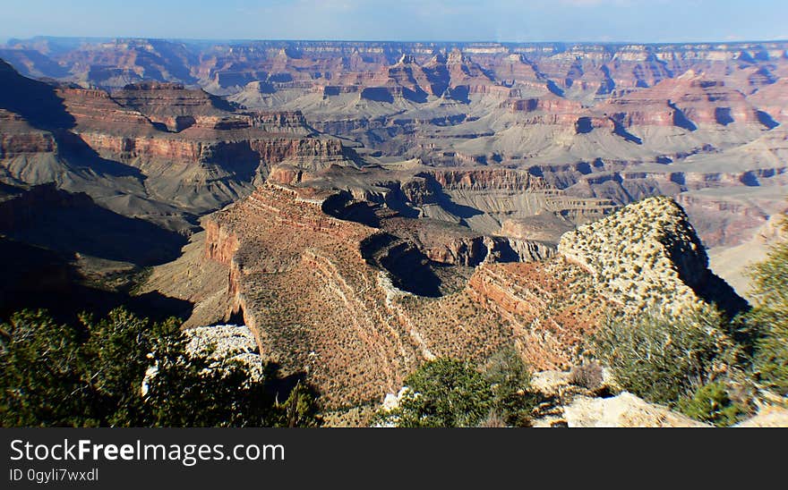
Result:
[[[470,287],[399,290],[362,253],[386,232],[324,214],[321,199],[266,184],[205,220],[204,253],[227,267],[232,308],[262,355],[307,373],[330,407],[380,401],[425,359],[484,360],[513,342],[523,322]]]

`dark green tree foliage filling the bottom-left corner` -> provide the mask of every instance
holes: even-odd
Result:
[[[2,427],[313,426],[313,393],[296,385],[285,403],[270,382],[250,380],[239,363],[185,351],[175,319],[151,324],[118,308],[99,321],[57,323],[21,311],[0,325]],[[146,370],[155,366],[147,380]]]

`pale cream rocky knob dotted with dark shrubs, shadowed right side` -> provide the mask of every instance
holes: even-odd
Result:
[[[746,302],[708,269],[689,218],[669,198],[649,198],[561,237],[559,253],[594,275],[612,301],[639,311],[695,308],[703,300],[736,312]]]

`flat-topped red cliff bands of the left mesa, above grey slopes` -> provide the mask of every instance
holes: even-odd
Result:
[[[113,97],[84,89],[60,94],[80,138],[108,159],[251,165],[252,170],[285,160],[310,167],[346,160],[338,139],[311,137],[301,114],[234,114],[224,100],[179,85],[131,85]],[[158,131],[157,122],[167,131]]]

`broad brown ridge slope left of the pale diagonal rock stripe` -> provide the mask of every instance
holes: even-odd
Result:
[[[412,354],[384,334],[391,325],[381,317],[377,273],[359,251],[372,229],[274,185],[210,216],[206,227],[205,254],[229,266],[234,309],[263,357],[285,372],[308,371],[333,406],[375,398],[381,384],[399,380]],[[364,283],[373,289],[359,292]]]

